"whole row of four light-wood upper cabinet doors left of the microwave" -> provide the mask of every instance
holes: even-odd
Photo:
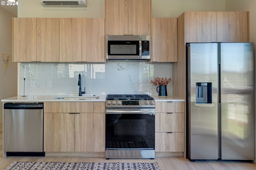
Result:
[[[14,62],[105,62],[104,18],[14,18]]]

